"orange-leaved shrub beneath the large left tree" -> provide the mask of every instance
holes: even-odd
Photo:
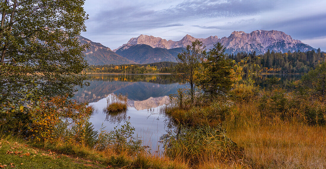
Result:
[[[9,124],[19,124],[11,128],[19,128],[20,133],[38,141],[53,142],[60,138],[81,144],[85,140],[85,128],[93,108],[67,97],[39,99],[19,111],[6,112],[7,116],[3,116],[1,120],[4,123],[0,126],[6,128]],[[12,121],[17,122],[10,123]]]

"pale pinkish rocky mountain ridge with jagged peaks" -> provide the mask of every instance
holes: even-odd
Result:
[[[161,47],[166,49],[173,49],[178,47],[185,48],[196,39],[202,41],[207,49],[212,49],[213,44],[220,42],[227,48],[226,52],[229,54],[239,52],[252,53],[253,51],[256,51],[257,54],[263,54],[268,49],[271,51],[274,50],[274,52],[294,52],[298,50],[305,52],[314,49],[313,47],[304,44],[300,40],[293,39],[291,36],[285,34],[284,32],[275,30],[256,30],[249,34],[243,31],[234,31],[229,37],[223,37],[221,39],[217,36],[210,36],[208,38],[194,38],[190,35],[186,35],[179,41],[140,35],[137,38],[131,38],[126,44],[123,44],[118,49],[127,49],[135,44],[146,44],[151,47]],[[117,49],[113,51],[117,51]]]

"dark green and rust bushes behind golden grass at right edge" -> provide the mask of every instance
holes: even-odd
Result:
[[[326,123],[325,98],[314,95],[298,95],[276,88],[264,91],[259,99],[260,116],[297,120],[299,122],[324,125]]]

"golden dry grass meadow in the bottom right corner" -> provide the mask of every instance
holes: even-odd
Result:
[[[224,127],[254,168],[326,168],[326,127],[262,119],[258,103],[237,106]]]

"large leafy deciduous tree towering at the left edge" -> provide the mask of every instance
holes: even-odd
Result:
[[[84,0],[0,2],[0,104],[15,111],[35,97],[71,97],[74,86],[83,85],[85,75],[76,75],[87,66],[85,46],[77,38],[86,31],[83,4]]]

